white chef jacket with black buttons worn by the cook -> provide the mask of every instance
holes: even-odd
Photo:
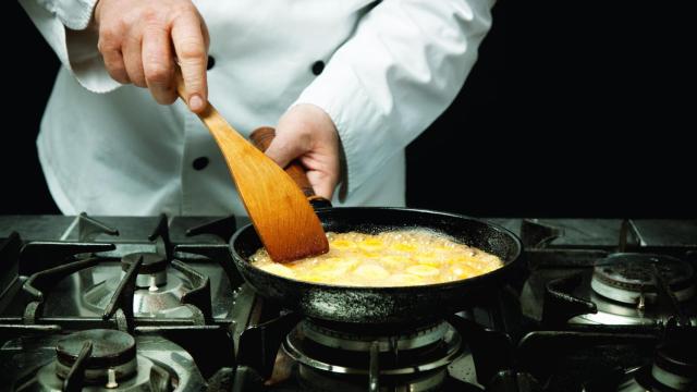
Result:
[[[63,213],[246,215],[198,118],[109,77],[86,29],[96,0],[20,2],[63,64],[37,140]],[[245,136],[318,106],[345,157],[334,205],[403,206],[404,148],[462,87],[492,2],[194,1],[215,59],[209,100]]]

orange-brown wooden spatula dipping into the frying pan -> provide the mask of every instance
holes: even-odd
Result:
[[[186,102],[184,82],[176,91]],[[274,261],[288,262],[329,250],[321,222],[293,180],[249,144],[210,102],[198,114],[222,151],[244,207]]]

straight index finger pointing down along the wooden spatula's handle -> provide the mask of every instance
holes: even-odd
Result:
[[[186,88],[186,102],[194,112],[206,107],[206,63],[208,61],[203,23],[195,12],[181,13],[172,24],[172,41],[182,78]]]

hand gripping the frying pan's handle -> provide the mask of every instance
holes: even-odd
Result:
[[[323,110],[308,103],[291,108],[279,120],[266,155],[282,168],[297,158],[315,193],[331,199],[339,183],[339,134]]]

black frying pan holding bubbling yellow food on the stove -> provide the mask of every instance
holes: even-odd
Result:
[[[311,194],[307,186],[298,185]],[[252,224],[237,230],[230,240],[230,249],[244,280],[259,295],[322,321],[412,323],[472,307],[493,295],[497,286],[515,273],[523,250],[521,241],[509,230],[455,213],[382,207],[326,207],[316,212],[326,232],[375,234],[421,228],[499,256],[503,261],[502,267],[488,273],[447,283],[393,287],[328,285],[288,279],[256,268],[249,257],[261,247],[259,236]]]

